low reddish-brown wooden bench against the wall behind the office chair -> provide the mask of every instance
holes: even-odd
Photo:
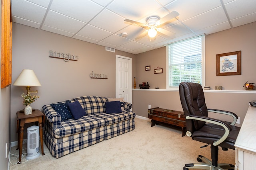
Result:
[[[182,128],[182,136],[186,135],[186,118],[182,111],[174,111],[155,107],[148,109],[148,118],[151,119],[151,127],[155,124],[167,123]]]

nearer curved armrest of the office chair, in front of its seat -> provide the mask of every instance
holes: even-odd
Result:
[[[218,119],[211,118],[211,117],[189,115],[189,116],[186,116],[186,119],[199,120],[199,121],[204,121],[204,122],[213,123],[213,124],[222,126],[225,129],[225,133],[220,139],[218,139],[217,141],[214,141],[214,143],[212,144],[214,146],[218,146],[220,143],[225,141],[230,131],[232,130],[228,123]]]

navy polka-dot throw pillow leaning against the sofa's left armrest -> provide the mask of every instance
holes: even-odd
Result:
[[[60,114],[61,121],[65,121],[73,118],[68,108],[68,103],[70,102],[51,104],[52,108]]]

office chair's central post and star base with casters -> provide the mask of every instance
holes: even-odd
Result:
[[[226,150],[226,149],[225,149]],[[192,163],[192,164],[185,164],[183,170],[189,169],[204,169],[204,170],[234,170],[234,165],[232,164],[218,164],[218,146],[211,145],[211,152],[212,154],[212,161],[208,158],[198,155],[197,161],[204,162],[204,163]]]

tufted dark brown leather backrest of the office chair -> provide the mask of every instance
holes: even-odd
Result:
[[[180,83],[180,101],[184,111],[184,115],[200,115],[208,116],[207,107],[204,100],[204,92],[202,86],[198,83],[181,82]],[[205,122],[186,119],[187,131],[192,133],[200,129]]]

